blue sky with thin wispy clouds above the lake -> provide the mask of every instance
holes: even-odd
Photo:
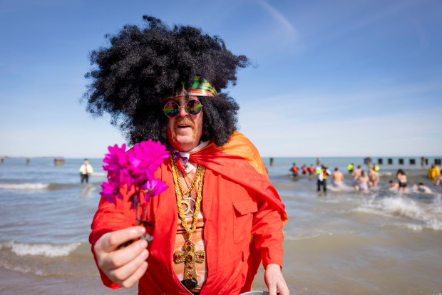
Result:
[[[150,14],[254,66],[227,91],[263,157],[442,155],[442,2],[0,0],[0,156],[103,157],[88,55]]]

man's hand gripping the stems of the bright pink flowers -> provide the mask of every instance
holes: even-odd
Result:
[[[93,247],[100,269],[111,281],[125,288],[136,284],[148,269],[148,242],[140,239],[125,248],[120,248],[120,245],[138,239],[143,234],[144,227],[128,227],[108,232]]]

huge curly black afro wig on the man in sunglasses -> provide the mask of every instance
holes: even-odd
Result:
[[[143,16],[145,26],[125,25],[111,45],[91,53],[95,66],[83,100],[89,113],[111,114],[112,125],[123,131],[130,144],[152,138],[167,142],[164,98],[192,85],[195,76],[210,81],[216,97],[199,98],[204,105],[202,140],[224,145],[237,129],[235,100],[221,90],[235,86],[237,68],[249,65],[217,36],[192,26],[170,29],[160,19]]]

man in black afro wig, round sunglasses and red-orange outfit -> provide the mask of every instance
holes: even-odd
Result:
[[[144,19],[145,28],[127,25],[111,46],[92,52],[97,68],[86,75],[85,98],[88,111],[110,113],[130,143],[168,145],[155,178],[169,188],[141,203],[153,240],[127,247],[146,231],[133,226],[133,187],[120,190],[116,203],[101,199],[90,242],[103,283],[138,281],[139,294],[240,294],[262,262],[269,294],[289,294],[281,271],[284,205],[257,149],[236,131],[239,106],[221,92],[235,85],[247,57],[200,29]]]

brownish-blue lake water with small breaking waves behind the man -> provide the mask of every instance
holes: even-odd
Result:
[[[426,178],[429,166],[421,167],[420,157],[413,158],[416,165],[408,157],[401,158],[404,165],[391,159],[388,165],[384,158],[379,187],[369,192],[353,190],[346,174],[350,162],[366,170],[364,158],[320,159],[346,175],[346,187],[329,185],[324,193],[316,191],[314,176],[289,172],[292,162],[316,165],[316,158],[276,157],[272,166],[264,158],[289,215],[283,271],[292,294],[441,294],[441,190]],[[0,294],[137,294],[101,284],[88,234],[106,174],[101,159],[90,159],[96,172],[81,185],[82,162],[6,159],[0,165]],[[389,190],[399,168],[409,187],[423,182],[433,193]],[[262,275],[255,289],[264,289]]]

